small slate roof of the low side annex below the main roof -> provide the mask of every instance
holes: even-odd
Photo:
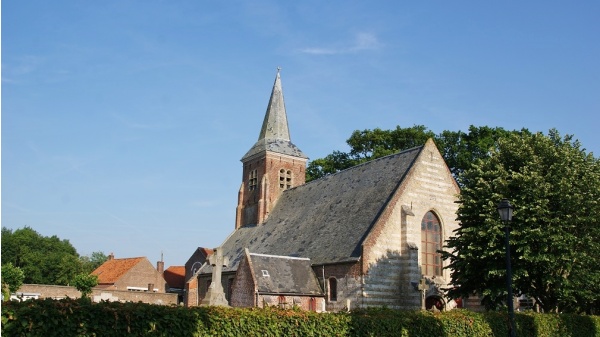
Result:
[[[259,293],[323,295],[309,259],[253,253],[249,258]]]

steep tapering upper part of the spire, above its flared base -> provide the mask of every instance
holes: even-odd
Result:
[[[271,91],[271,98],[267,106],[267,112],[260,130],[258,140],[261,139],[281,139],[290,140],[290,131],[287,123],[287,114],[285,112],[285,102],[283,101],[283,91],[281,90],[280,67],[277,67],[277,76]]]

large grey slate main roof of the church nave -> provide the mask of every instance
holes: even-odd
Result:
[[[358,261],[361,245],[423,146],[286,190],[263,224],[235,230],[222,244],[237,269],[244,248],[310,258],[314,265]],[[210,271],[210,268],[203,272]]]

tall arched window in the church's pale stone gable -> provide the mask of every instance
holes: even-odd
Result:
[[[427,212],[421,221],[421,268],[423,275],[442,275],[442,230],[440,220]]]

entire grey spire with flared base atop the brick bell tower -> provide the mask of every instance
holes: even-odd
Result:
[[[300,149],[292,144],[290,130],[287,123],[285,102],[283,101],[283,90],[281,89],[280,67],[277,67],[277,76],[271,91],[271,98],[265,113],[258,141],[248,151],[242,161],[264,151],[281,153],[293,157],[308,159]]]

